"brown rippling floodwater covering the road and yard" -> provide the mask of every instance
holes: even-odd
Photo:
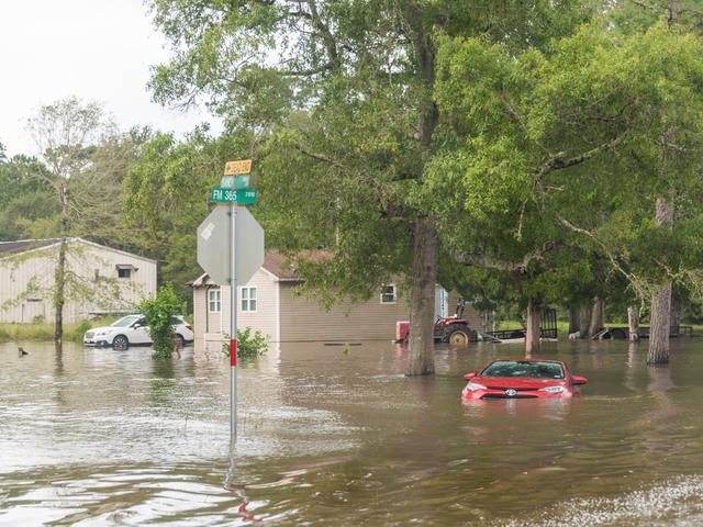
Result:
[[[561,343],[589,378],[566,401],[465,405],[461,375],[521,347],[405,351],[283,345],[239,369],[228,457],[228,360],[187,348],[0,345],[1,526],[699,526],[703,340]],[[231,471],[231,487],[224,481]]]

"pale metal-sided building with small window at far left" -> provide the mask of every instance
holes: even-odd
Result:
[[[0,242],[0,322],[54,321],[59,239]],[[156,293],[156,260],[69,238],[64,321],[133,311]]]

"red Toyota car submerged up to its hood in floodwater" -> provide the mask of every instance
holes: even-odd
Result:
[[[569,373],[565,362],[544,359],[498,359],[464,378],[469,381],[465,400],[571,397],[588,382]]]

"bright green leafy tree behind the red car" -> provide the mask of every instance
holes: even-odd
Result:
[[[695,37],[661,25],[626,37],[584,26],[546,53],[517,56],[481,38],[443,42],[436,97],[450,119],[426,206],[456,261],[524,278],[528,328],[543,298],[563,285],[556,277],[591,255],[641,291],[637,273],[663,276],[691,254],[655,250],[661,237],[629,222],[643,211],[633,197],[644,193],[646,206],[662,184],[689,194],[700,186],[700,52]],[[672,127],[677,169],[667,157],[663,179],[661,138]]]

